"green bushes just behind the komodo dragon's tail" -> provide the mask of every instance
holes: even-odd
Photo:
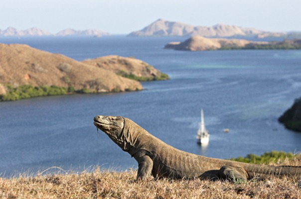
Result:
[[[266,152],[261,156],[248,154],[246,157],[238,157],[238,158],[231,158],[230,160],[238,161],[238,162],[245,162],[245,163],[252,163],[252,164],[271,164],[271,163],[278,163],[279,161],[285,160],[292,160],[298,155],[293,155],[292,153],[286,153],[283,151],[271,151]]]

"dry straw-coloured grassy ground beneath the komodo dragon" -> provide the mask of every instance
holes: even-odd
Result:
[[[301,155],[276,161],[280,165],[301,166]],[[272,163],[275,165],[275,163]],[[10,179],[0,178],[0,198],[122,198],[122,199],[167,199],[167,198],[216,198],[216,199],[300,199],[301,179],[274,178],[256,182],[230,183],[222,181],[156,179],[136,182],[137,171],[102,171],[80,174],[52,174],[27,177],[20,175]]]

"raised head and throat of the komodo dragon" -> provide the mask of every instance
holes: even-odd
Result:
[[[126,150],[126,140],[123,135],[125,118],[121,116],[97,115],[94,117],[94,125],[97,130],[104,131],[118,146]]]

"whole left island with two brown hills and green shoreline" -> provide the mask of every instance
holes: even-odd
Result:
[[[23,44],[0,44],[0,101],[63,95],[139,91],[139,81],[167,80],[146,62],[120,56],[82,62]]]

